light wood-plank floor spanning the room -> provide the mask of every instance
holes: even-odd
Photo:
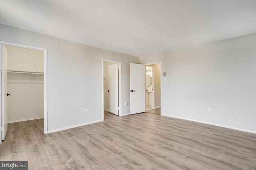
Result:
[[[0,160],[29,170],[255,170],[256,134],[152,113],[44,134],[43,119],[8,124]]]

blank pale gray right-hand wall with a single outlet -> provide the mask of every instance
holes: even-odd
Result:
[[[256,133],[255,42],[252,34],[141,57],[166,72],[161,114]]]

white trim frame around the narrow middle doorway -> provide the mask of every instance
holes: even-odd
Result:
[[[122,62],[102,59],[102,120],[104,120],[104,61],[111,63],[118,63],[118,105],[119,105],[119,116],[122,116]]]

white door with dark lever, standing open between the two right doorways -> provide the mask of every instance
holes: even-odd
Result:
[[[130,113],[146,111],[146,71],[144,64],[130,63]]]

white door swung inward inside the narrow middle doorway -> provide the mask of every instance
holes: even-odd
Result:
[[[108,111],[118,115],[118,63],[108,66]]]

